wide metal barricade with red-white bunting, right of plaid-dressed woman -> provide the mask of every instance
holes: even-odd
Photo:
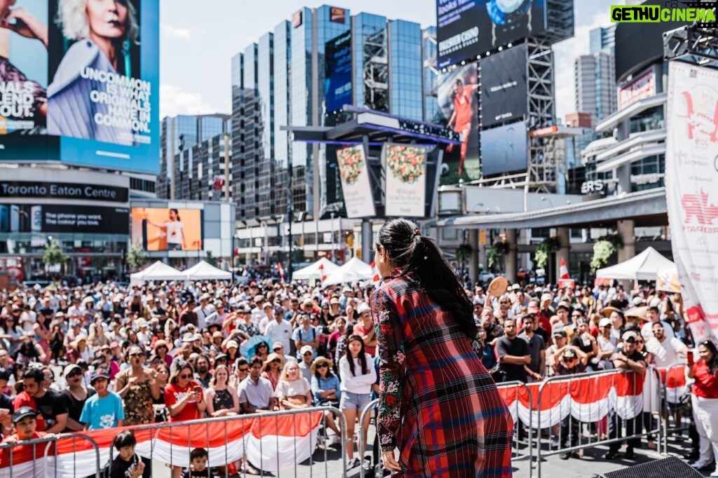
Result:
[[[648,415],[644,415],[642,385],[645,385],[646,379],[640,382],[628,375],[633,373],[627,370],[606,370],[576,375],[555,375],[541,383],[536,402],[536,423],[533,423],[534,415],[532,415],[531,425],[542,430],[548,429],[549,442],[545,443],[541,433],[538,434],[536,446],[538,478],[541,478],[541,459],[545,456],[569,454],[571,457],[571,454],[579,450],[605,444],[620,445],[625,440],[640,439],[643,436],[657,435],[658,443],[661,442],[663,434],[661,421],[654,422],[653,419],[648,419],[653,416],[651,410],[645,411]],[[654,367],[648,367],[645,374],[646,377],[655,378],[656,383],[661,383],[661,375]],[[623,380],[618,385],[617,375],[623,375]],[[616,385],[618,388],[623,388],[620,390],[623,395],[617,393],[618,390],[611,390]],[[590,400],[587,403],[576,403],[569,395],[571,387],[577,387],[579,395],[595,393],[591,390],[600,390],[598,395],[602,396],[605,393],[606,396],[597,400],[597,403]],[[659,386],[655,390],[656,393],[660,393],[660,389]],[[650,395],[653,390],[648,390],[647,393]],[[658,402],[660,403],[660,400]],[[544,405],[550,403],[551,408],[543,411],[542,403]],[[624,418],[621,418],[622,416]],[[648,423],[645,423],[646,421]],[[590,430],[591,423],[595,423],[593,433]],[[586,426],[588,433],[584,434]]]

